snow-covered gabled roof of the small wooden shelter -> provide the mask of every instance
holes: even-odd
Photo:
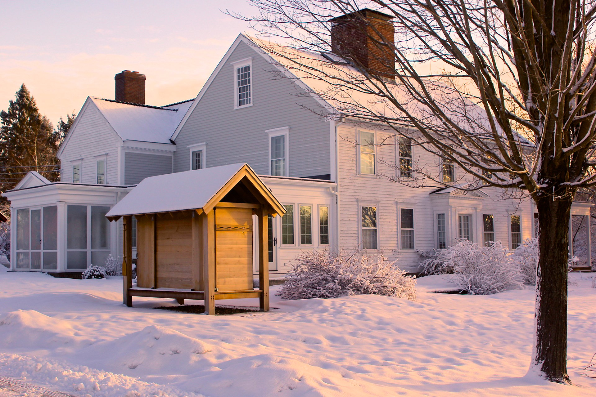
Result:
[[[284,214],[283,205],[252,168],[246,163],[240,163],[145,178],[105,216],[114,220],[124,215],[158,212],[197,209],[208,212],[211,208],[206,206],[212,204],[212,199],[238,174],[249,177],[253,185],[260,188],[263,197],[269,201],[275,214]]]

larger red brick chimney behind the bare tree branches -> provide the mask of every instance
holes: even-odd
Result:
[[[380,77],[395,80],[392,19],[391,15],[368,8],[333,18],[331,51]]]

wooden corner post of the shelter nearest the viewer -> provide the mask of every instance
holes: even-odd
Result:
[[[203,287],[205,314],[215,314],[215,209],[202,214],[203,218]]]

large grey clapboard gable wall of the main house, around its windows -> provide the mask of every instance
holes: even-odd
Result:
[[[253,105],[234,109],[232,62],[250,57]],[[265,131],[290,127],[288,176],[331,174],[330,124],[311,111],[320,105],[275,70],[249,45],[238,43],[175,138],[175,172],[190,168],[187,146],[204,142],[206,167],[247,162],[257,174],[269,174]]]

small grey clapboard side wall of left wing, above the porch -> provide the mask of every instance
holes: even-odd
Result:
[[[124,152],[124,184],[136,185],[143,179],[172,173],[172,156]]]

